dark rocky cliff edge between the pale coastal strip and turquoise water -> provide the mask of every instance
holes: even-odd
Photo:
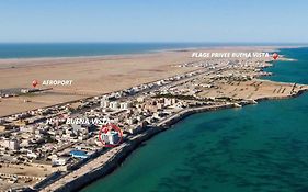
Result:
[[[308,89],[300,90],[296,94],[289,95],[289,97],[283,97],[283,98],[264,98],[264,99],[258,99],[255,101],[262,102],[262,101],[271,101],[271,100],[282,100],[282,99],[289,99],[289,98],[297,98],[300,94],[307,92]],[[251,105],[251,104],[258,104],[258,103],[243,103],[241,106]],[[109,174],[113,173],[116,169],[119,169],[122,163],[132,155],[135,150],[137,150],[140,146],[142,146],[147,140],[151,139],[156,135],[168,131],[170,128],[173,128],[175,124],[180,123],[181,121],[184,121],[186,117],[198,114],[198,113],[207,113],[207,112],[215,112],[218,110],[227,110],[227,109],[236,109],[238,108],[235,103],[228,103],[223,104],[218,106],[199,106],[199,108],[193,108],[184,110],[178,114],[174,114],[170,116],[169,118],[164,120],[166,122],[162,125],[159,125],[157,127],[151,127],[145,133],[141,134],[140,137],[138,137],[135,140],[129,142],[128,145],[125,145],[123,148],[119,149],[119,151],[111,158],[111,161],[109,161],[107,165],[100,166],[96,168],[94,172],[87,172],[82,177],[76,178],[70,183],[64,184],[61,188],[58,188],[55,190],[55,192],[70,192],[70,191],[80,191],[87,185],[100,180],[104,179]],[[137,135],[138,136],[138,135]]]

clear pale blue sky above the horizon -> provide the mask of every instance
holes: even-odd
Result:
[[[0,0],[0,43],[308,43],[307,0]]]

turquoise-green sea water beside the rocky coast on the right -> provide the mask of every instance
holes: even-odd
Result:
[[[270,79],[308,83],[308,48]],[[192,115],[82,192],[307,192],[308,93]]]

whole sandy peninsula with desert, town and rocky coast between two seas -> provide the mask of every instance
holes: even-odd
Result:
[[[306,84],[260,79],[271,75],[263,69],[275,63],[273,57],[193,57],[195,52],[272,55],[275,48],[1,60],[1,78],[28,79],[23,88],[18,87],[19,78],[3,84],[1,188],[10,189],[14,183],[24,190],[75,191],[106,176],[144,140],[190,114],[296,97],[308,89]],[[64,79],[68,71],[69,87],[42,87],[33,92],[27,88],[32,72],[44,80]],[[27,92],[20,94],[20,90]],[[70,118],[99,121],[67,123]],[[101,120],[121,128],[123,140],[118,145],[100,143]]]

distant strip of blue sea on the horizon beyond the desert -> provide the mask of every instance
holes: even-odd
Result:
[[[266,43],[0,43],[1,58],[81,57],[139,54],[163,49],[273,45]],[[296,44],[274,44],[296,45]]]

